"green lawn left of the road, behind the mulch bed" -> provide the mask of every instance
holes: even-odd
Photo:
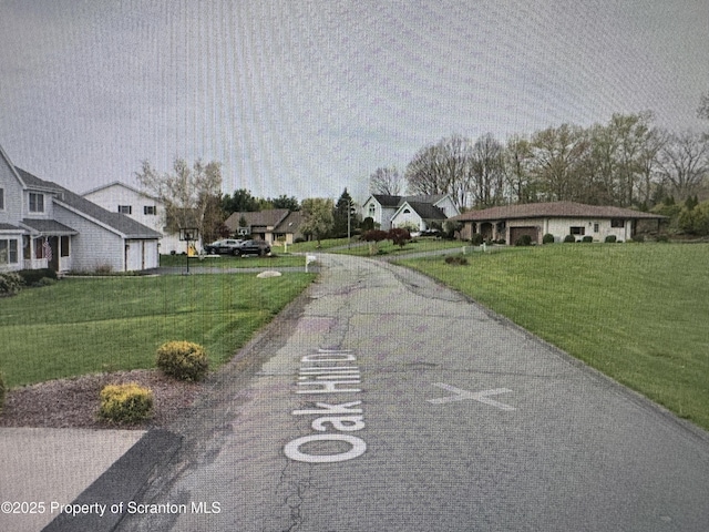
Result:
[[[157,347],[189,340],[227,361],[315,278],[287,274],[68,278],[0,300],[0,370],[9,387],[153,368]]]

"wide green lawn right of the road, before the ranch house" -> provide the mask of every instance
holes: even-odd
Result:
[[[402,260],[709,429],[709,245],[556,244]]]

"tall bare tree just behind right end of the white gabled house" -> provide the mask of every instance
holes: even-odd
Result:
[[[407,166],[409,193],[450,194],[461,208],[467,201],[471,162],[471,142],[462,135],[452,135],[424,146]]]

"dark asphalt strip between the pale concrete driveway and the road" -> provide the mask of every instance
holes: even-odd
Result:
[[[125,454],[86,488],[73,504],[105,504],[106,511],[73,516],[58,515],[42,532],[73,532],[91,530],[111,532],[125,514],[125,504],[133,501],[152,473],[167,463],[182,447],[182,437],[164,429],[147,431]],[[111,512],[113,504],[123,503],[123,512]]]

